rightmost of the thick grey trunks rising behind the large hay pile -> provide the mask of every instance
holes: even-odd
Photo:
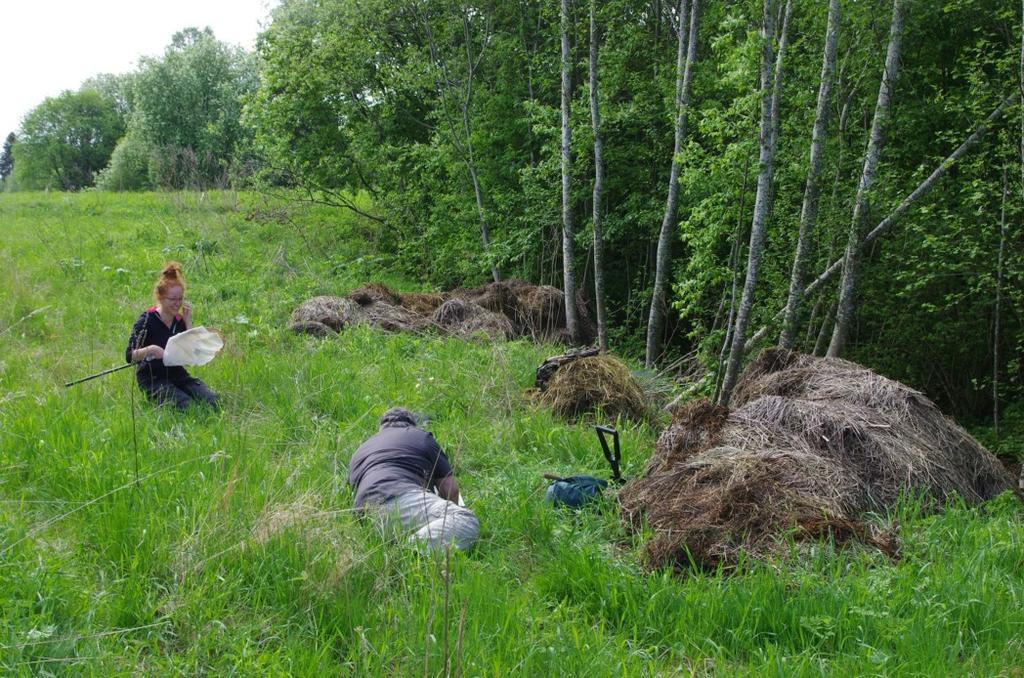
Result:
[[[839,305],[836,308],[836,327],[828,344],[829,357],[839,357],[846,346],[853,325],[855,298],[857,293],[857,269],[860,266],[860,251],[864,224],[867,222],[870,192],[874,184],[874,173],[882,157],[883,130],[889,118],[889,100],[899,67],[900,38],[903,34],[903,0],[893,0],[893,18],[889,29],[889,48],[886,50],[886,68],[882,74],[879,98],[874,104],[874,119],[864,154],[864,168],[857,186],[857,198],[853,206],[853,220],[850,223],[850,238],[843,259],[843,280],[839,286]]]

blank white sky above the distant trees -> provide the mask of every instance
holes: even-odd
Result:
[[[278,0],[0,0],[0,143],[47,96],[134,71],[183,28],[252,49]]]

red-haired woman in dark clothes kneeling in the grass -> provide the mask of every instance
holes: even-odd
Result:
[[[184,410],[193,400],[217,407],[217,395],[201,379],[182,367],[164,365],[164,348],[174,335],[191,329],[191,304],[185,298],[181,264],[170,261],[153,290],[157,305],[146,308],[135,321],[125,359],[137,364],[135,379],[142,392],[158,405],[170,404]]]

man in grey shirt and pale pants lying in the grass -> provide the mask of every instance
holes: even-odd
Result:
[[[459,483],[434,436],[419,427],[423,417],[391,408],[380,430],[359,446],[348,465],[355,507],[398,521],[411,541],[428,547],[473,548],[480,523],[459,506]],[[431,490],[435,491],[431,492]]]

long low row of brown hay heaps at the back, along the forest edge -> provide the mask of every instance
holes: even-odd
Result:
[[[593,341],[596,331],[580,294],[577,314],[581,342]],[[453,320],[456,315],[459,319]],[[332,333],[323,326],[338,332],[355,322],[388,332],[437,328],[466,338],[482,333],[493,340],[571,343],[565,329],[562,292],[517,280],[440,294],[399,294],[379,283],[369,283],[347,297],[313,297],[304,302],[292,314],[292,330],[327,336]]]

